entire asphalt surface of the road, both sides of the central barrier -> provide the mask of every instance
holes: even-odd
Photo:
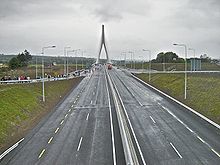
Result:
[[[147,165],[219,165],[220,131],[141,84],[108,70]],[[125,164],[112,93],[100,67],[0,164]]]

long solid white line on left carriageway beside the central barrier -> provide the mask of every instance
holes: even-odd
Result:
[[[112,119],[112,107],[111,107],[111,101],[110,101],[110,96],[109,96],[109,89],[108,89],[108,84],[107,84],[107,78],[105,76],[105,85],[107,88],[107,93],[108,93],[108,105],[109,105],[109,116],[110,116],[110,127],[111,127],[111,138],[112,138],[112,154],[113,154],[113,165],[116,165],[116,152],[115,152],[115,137],[114,137],[114,128],[113,128],[113,119]]]

